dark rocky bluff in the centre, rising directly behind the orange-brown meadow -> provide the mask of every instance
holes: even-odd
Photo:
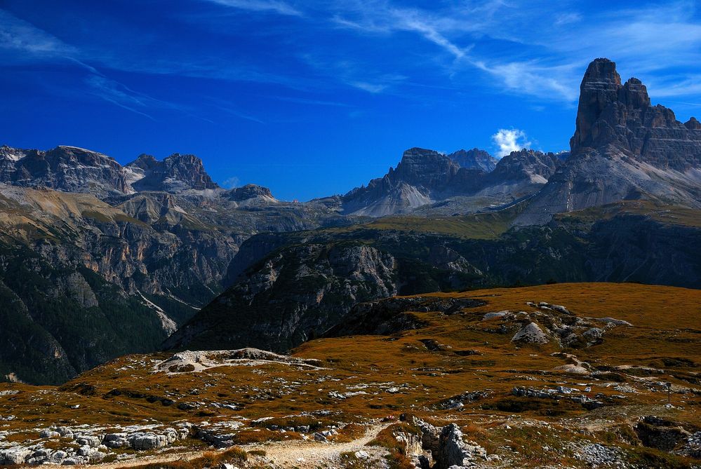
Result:
[[[166,341],[166,348],[286,351],[335,324],[360,301],[396,294],[392,255],[361,243],[276,250]]]

